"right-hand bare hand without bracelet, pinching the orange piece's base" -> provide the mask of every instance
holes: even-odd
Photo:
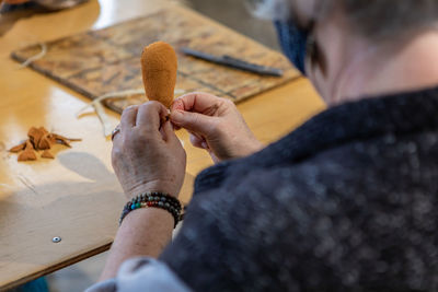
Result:
[[[211,94],[181,96],[172,105],[171,120],[188,130],[192,144],[207,150],[215,162],[243,157],[263,148],[235,105]]]

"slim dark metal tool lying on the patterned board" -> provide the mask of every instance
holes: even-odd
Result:
[[[214,56],[203,51],[194,50],[191,48],[181,48],[180,49],[185,55],[203,59],[209,62],[223,65],[227,67],[249,71],[252,73],[261,74],[261,75],[272,75],[272,77],[281,77],[283,70],[274,67],[261,66],[256,63],[246,62],[244,60],[230,57],[228,55],[223,56]]]

